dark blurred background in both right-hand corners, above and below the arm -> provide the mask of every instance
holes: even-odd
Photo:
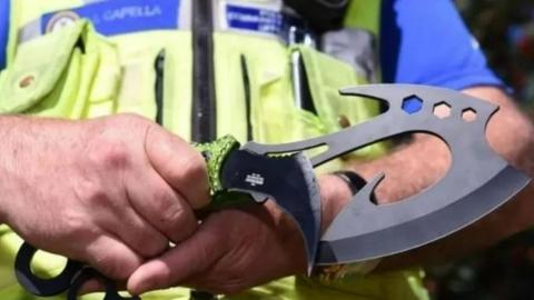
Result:
[[[456,3],[490,66],[534,119],[534,0]],[[456,263],[432,267],[427,276],[426,284],[436,300],[532,300],[534,232],[523,232]]]

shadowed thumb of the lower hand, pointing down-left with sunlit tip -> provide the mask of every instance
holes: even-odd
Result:
[[[226,252],[224,236],[201,227],[190,239],[136,270],[128,280],[132,294],[178,286],[205,272]]]

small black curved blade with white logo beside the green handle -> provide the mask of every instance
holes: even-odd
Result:
[[[250,193],[258,202],[275,200],[295,219],[306,243],[310,272],[320,236],[320,197],[309,160],[301,153],[266,157],[235,150],[226,159],[220,179],[229,191]]]

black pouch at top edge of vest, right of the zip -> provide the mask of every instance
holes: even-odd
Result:
[[[284,2],[319,33],[342,28],[350,3],[349,0],[284,0]]]

